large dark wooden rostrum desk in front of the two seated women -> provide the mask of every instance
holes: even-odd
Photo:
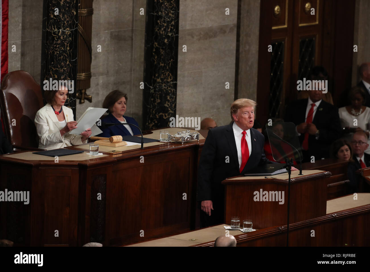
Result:
[[[157,144],[58,162],[31,151],[0,156],[0,191],[30,191],[28,205],[0,202],[0,239],[26,246],[107,246],[194,229],[204,138]]]

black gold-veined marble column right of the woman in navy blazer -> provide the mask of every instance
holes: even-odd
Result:
[[[153,129],[176,115],[179,0],[148,0],[146,14],[143,123]]]

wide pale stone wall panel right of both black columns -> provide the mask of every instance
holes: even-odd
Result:
[[[180,0],[176,110],[180,117],[211,117],[217,125],[231,121],[237,7],[238,0]]]

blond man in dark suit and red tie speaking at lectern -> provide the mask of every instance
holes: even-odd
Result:
[[[265,137],[252,128],[255,107],[253,100],[235,100],[230,108],[232,122],[208,131],[198,168],[197,200],[203,211],[202,227],[225,223],[221,181],[273,163],[263,152]]]

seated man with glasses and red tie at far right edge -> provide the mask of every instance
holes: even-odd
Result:
[[[352,136],[351,146],[353,150],[354,164],[349,164],[348,177],[349,183],[349,194],[359,192],[359,183],[362,182],[362,178],[356,175],[356,170],[361,168],[370,167],[370,155],[364,153],[369,144],[367,143],[367,135],[363,131],[356,131]],[[366,184],[364,184],[367,188]],[[367,188],[368,189],[368,188]]]

